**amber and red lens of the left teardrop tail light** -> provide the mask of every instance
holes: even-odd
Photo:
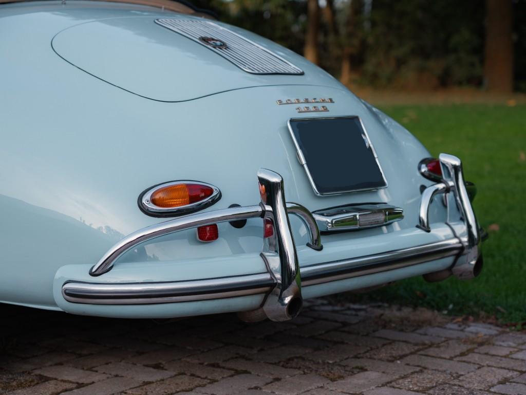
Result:
[[[214,193],[214,189],[200,184],[176,184],[161,187],[151,194],[150,201],[157,207],[176,208],[197,203]]]

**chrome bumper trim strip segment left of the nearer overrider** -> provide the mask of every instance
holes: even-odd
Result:
[[[158,283],[67,282],[62,295],[72,303],[155,304],[255,295],[269,292],[274,285],[269,273]]]

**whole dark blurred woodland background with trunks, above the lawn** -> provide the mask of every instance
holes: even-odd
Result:
[[[346,85],[526,91],[526,0],[198,0]]]

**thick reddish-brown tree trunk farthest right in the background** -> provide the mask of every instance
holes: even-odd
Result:
[[[488,91],[513,91],[511,0],[486,0],[484,80]]]

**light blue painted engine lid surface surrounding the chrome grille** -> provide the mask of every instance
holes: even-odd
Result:
[[[200,19],[186,15],[179,18]],[[259,45],[299,67],[309,67],[304,58],[284,47],[239,28],[232,29],[245,37],[252,36]],[[87,73],[160,101],[185,101],[251,86],[339,85],[321,70],[295,76],[241,72],[206,46],[153,23],[151,16],[105,18],[79,24],[58,33],[52,45],[59,56]]]

